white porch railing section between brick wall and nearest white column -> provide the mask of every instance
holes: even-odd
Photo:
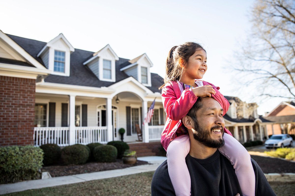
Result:
[[[34,127],[35,146],[42,144],[69,145],[69,127]]]

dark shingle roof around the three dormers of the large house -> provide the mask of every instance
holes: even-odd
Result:
[[[44,66],[42,59],[38,58],[37,54],[46,45],[45,42],[13,35],[8,36]],[[78,86],[107,87],[130,77],[123,71],[120,71],[120,68],[127,66],[128,63],[130,64],[129,59],[119,58],[119,60],[116,61],[116,82],[100,81],[86,65],[83,65],[83,62],[93,56],[93,54],[94,52],[75,48],[75,51],[71,53],[70,76],[49,75],[47,76],[47,78],[45,78],[45,82],[71,84]],[[151,73],[151,78],[152,86],[147,88],[149,88],[153,92],[161,92],[160,90],[158,90],[158,87],[162,85],[161,81],[163,80],[163,78],[155,73]]]

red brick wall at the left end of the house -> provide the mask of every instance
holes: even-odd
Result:
[[[33,145],[35,79],[0,76],[0,146]]]

